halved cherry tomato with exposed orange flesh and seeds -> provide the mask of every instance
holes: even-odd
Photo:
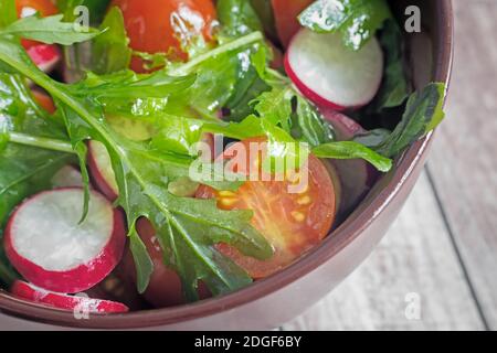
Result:
[[[226,149],[224,160],[236,158],[235,151],[247,151],[246,162],[260,165],[261,156],[250,156],[250,143],[262,139],[248,139]],[[254,153],[255,154],[255,153]],[[258,161],[257,161],[258,160]],[[233,168],[245,172],[246,168]],[[267,277],[288,266],[326,237],[335,220],[335,188],[325,164],[314,156],[308,160],[308,182],[298,193],[290,193],[295,182],[289,180],[247,181],[236,192],[215,191],[202,185],[197,197],[213,199],[222,210],[252,210],[252,224],[275,249],[269,260],[257,260],[242,255],[236,248],[219,244],[216,248],[243,267],[254,279]]]

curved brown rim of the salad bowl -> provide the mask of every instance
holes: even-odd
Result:
[[[454,15],[451,0],[440,0],[437,4],[438,43],[435,66],[435,81],[448,85],[453,61]],[[331,257],[336,256],[352,240],[359,237],[389,204],[399,196],[408,179],[432,143],[433,133],[414,143],[400,159],[396,170],[389,184],[372,200],[372,202],[357,215],[353,222],[343,224],[334,232],[322,244],[308,255],[273,275],[271,278],[254,282],[236,292],[208,299],[187,306],[142,310],[126,314],[93,315],[92,320],[75,320],[72,312],[46,308],[11,297],[0,290],[0,313],[28,319],[52,325],[84,328],[84,329],[146,329],[160,325],[187,322],[193,319],[220,313],[247,302],[268,296],[311,272]]]

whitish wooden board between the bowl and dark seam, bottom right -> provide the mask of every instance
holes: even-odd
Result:
[[[421,299],[421,320],[404,313],[412,292]],[[425,173],[364,264],[283,329],[484,329]]]

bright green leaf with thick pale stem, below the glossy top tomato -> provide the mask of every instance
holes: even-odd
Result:
[[[157,98],[106,99],[106,113],[140,118],[166,114],[218,120],[219,110],[250,74],[251,55],[261,50],[262,44],[263,35],[254,32],[198,55],[186,64],[166,62],[162,73],[175,77],[194,74],[194,83],[187,89],[177,89]]]

